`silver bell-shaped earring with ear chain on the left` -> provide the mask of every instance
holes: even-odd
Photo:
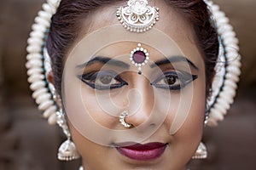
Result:
[[[79,152],[76,149],[75,144],[71,140],[71,134],[67,127],[67,122],[63,111],[57,111],[57,123],[62,128],[63,133],[67,136],[67,140],[63,142],[58,150],[58,159],[60,161],[72,161],[75,159],[79,159]]]

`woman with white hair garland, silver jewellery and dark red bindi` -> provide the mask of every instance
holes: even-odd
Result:
[[[221,80],[212,88],[217,63],[238,54],[220,39],[225,50],[218,58],[210,5],[195,0],[44,4],[26,66],[39,109],[67,135],[59,159],[81,156],[86,170],[177,170],[192,157],[207,156],[203,125],[209,116],[210,124],[222,119],[240,74],[238,58],[221,67]],[[49,10],[55,8],[56,13]],[[45,20],[52,14],[49,26]],[[46,46],[39,42],[40,26],[49,27]],[[234,35],[230,44],[236,45]]]

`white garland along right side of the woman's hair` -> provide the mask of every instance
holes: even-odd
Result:
[[[208,99],[208,126],[217,126],[219,121],[224,120],[230,105],[233,104],[236,96],[237,82],[241,75],[241,56],[238,54],[238,39],[233,27],[229,24],[229,19],[224,12],[219,10],[219,6],[207,1],[212,12],[213,23],[215,24],[220,49],[218,63],[215,67],[216,76],[212,82],[212,95]]]

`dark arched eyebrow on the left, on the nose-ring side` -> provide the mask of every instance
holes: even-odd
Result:
[[[126,64],[123,61],[117,59],[111,59],[108,57],[96,56],[93,59],[90,59],[88,62],[83,63],[82,65],[77,65],[77,68],[84,68],[85,66],[90,66],[96,63],[108,64],[108,65],[115,65],[125,69],[129,69],[130,65]]]

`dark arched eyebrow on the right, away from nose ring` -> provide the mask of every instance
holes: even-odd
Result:
[[[181,61],[188,62],[189,65],[191,65],[193,68],[195,68],[195,70],[198,71],[198,67],[192,61],[190,61],[189,59],[187,59],[186,57],[183,57],[183,56],[172,56],[172,57],[169,57],[166,59],[160,59],[160,60],[154,62],[154,64],[150,65],[150,67],[154,68],[156,66],[166,65],[169,63],[176,63],[176,62],[181,62]]]

